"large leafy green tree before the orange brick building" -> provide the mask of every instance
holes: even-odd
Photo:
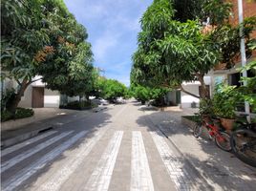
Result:
[[[227,22],[231,11],[229,3],[221,0],[191,1],[193,4],[189,9],[194,10],[183,14],[183,7],[177,2],[155,0],[144,12],[131,78],[140,85],[181,89],[195,97],[200,96],[184,90],[181,83],[199,80],[203,87],[202,97],[205,97],[208,94],[204,74],[219,62],[229,62],[239,53],[238,27],[233,28]],[[205,21],[207,16],[210,16],[210,23],[203,26],[200,21]],[[253,22],[250,22],[245,25],[247,41],[253,29]],[[231,51],[230,45],[233,45]]]

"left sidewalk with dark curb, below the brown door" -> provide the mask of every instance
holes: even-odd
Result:
[[[92,110],[67,110],[58,108],[36,108],[34,116],[1,123],[1,148],[5,148],[32,138],[41,132],[60,127],[80,117],[85,117],[106,107],[99,106]]]

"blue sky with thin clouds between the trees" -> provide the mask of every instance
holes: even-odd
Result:
[[[89,34],[94,65],[107,78],[130,84],[132,54],[137,50],[139,20],[153,0],[64,0]]]

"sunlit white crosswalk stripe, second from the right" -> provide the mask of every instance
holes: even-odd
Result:
[[[154,184],[149,169],[143,138],[139,131],[133,132],[130,190],[154,191]]]

